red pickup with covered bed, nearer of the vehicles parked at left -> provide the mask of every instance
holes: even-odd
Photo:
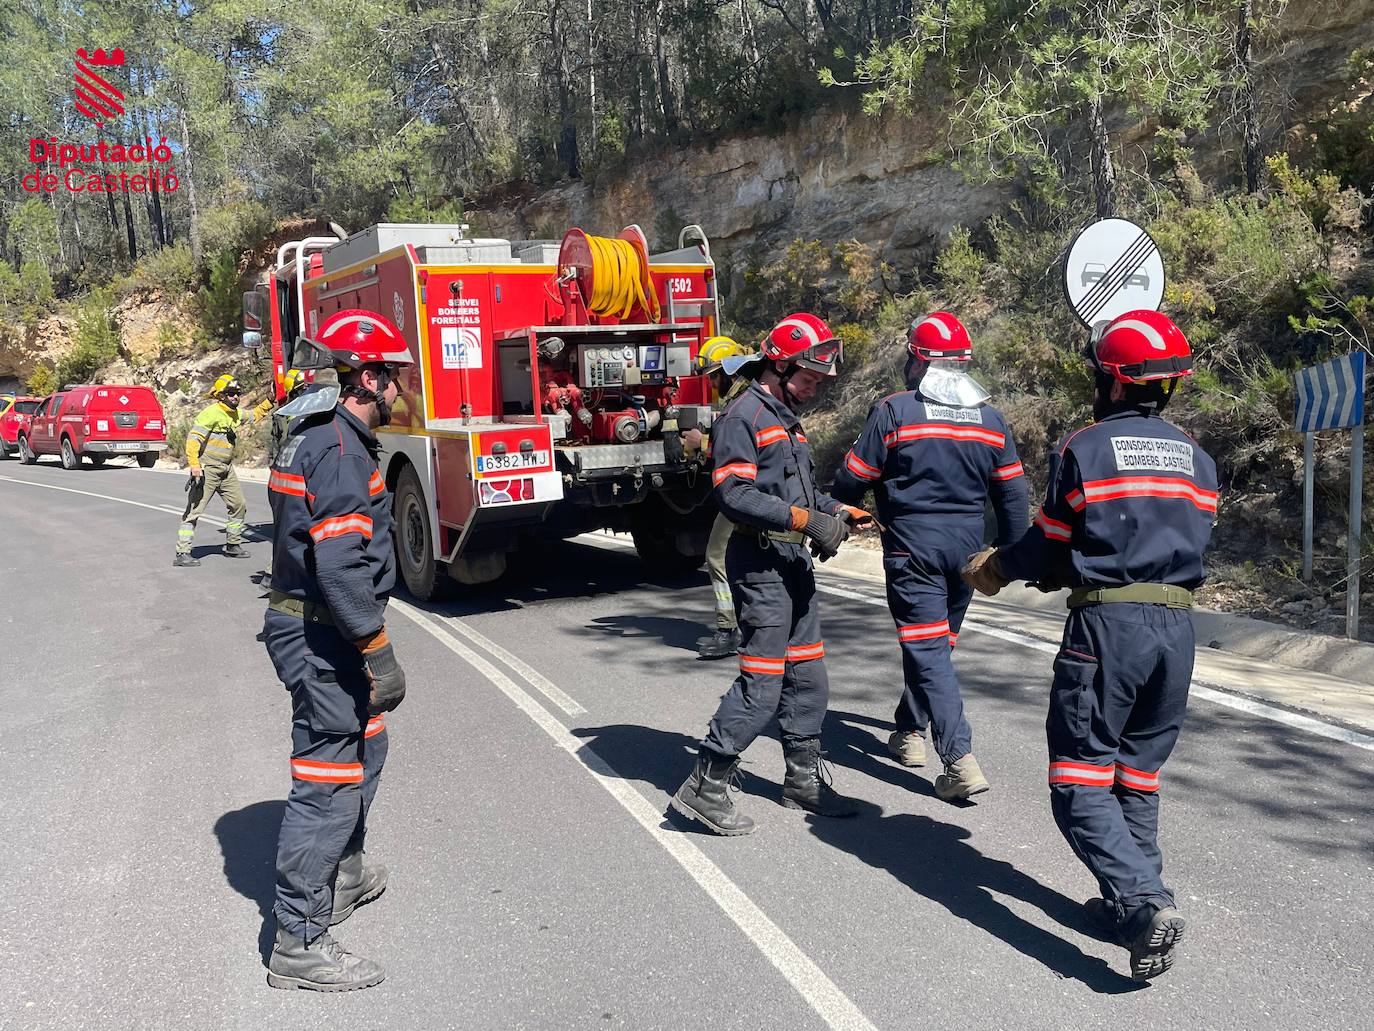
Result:
[[[38,403],[18,444],[25,465],[58,455],[63,469],[77,469],[82,458],[100,466],[111,455],[132,455],[150,469],[168,445],[166,419],[147,386],[69,386]]]

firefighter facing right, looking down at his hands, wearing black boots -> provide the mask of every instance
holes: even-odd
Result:
[[[796,410],[835,375],[840,342],[815,315],[790,315],[760,353],[724,360],[750,378],[712,426],[716,503],[736,529],[725,548],[739,619],[739,675],[720,700],[691,775],[672,807],[717,834],[747,834],[730,784],[743,752],[776,716],[786,779],[783,804],[848,817],[853,804],[830,786],[820,751],[830,682],[823,656],[812,554],[835,555],[849,524],[871,518],[822,494]]]

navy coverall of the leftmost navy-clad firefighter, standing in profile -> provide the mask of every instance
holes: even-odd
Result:
[[[306,942],[328,925],[345,852],[363,848],[367,812],[386,762],[382,716],[353,642],[383,627],[396,583],[392,496],[381,445],[342,406],[295,419],[272,465],[273,603],[264,639],[291,693],[291,793],[276,856],[276,920]]]

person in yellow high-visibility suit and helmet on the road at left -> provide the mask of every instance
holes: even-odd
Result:
[[[196,520],[205,514],[205,506],[217,494],[224,498],[224,507],[229,513],[224,524],[224,554],[229,558],[247,557],[247,551],[243,550],[243,521],[249,514],[249,506],[243,500],[239,476],[234,472],[234,445],[238,443],[239,429],[246,429],[267,417],[272,411],[272,401],[264,399],[251,411],[245,411],[239,408],[242,396],[238,379],[229,374],[221,375],[210,388],[214,403],[195,417],[195,423],[185,436],[191,485],[185,499],[185,513],[176,532],[176,558],[172,559],[174,566],[201,565],[201,559],[191,555],[191,542],[195,540]]]

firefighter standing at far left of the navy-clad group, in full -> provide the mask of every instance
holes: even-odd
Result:
[[[374,430],[390,421],[397,370],[412,360],[396,327],[363,311],[331,315],[312,342],[339,384],[302,399],[315,414],[293,419],[268,481],[276,539],[264,639],[293,702],[268,983],[348,991],[383,977],[328,928],[386,888],[363,840],[386,760],[383,713],[405,675],[386,636],[396,564]]]

